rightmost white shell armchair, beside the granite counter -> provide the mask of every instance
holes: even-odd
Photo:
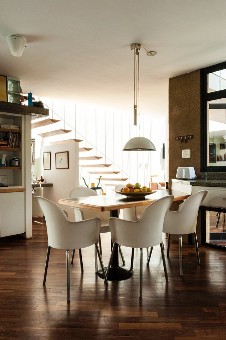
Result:
[[[179,206],[178,211],[168,211],[165,216],[163,232],[169,234],[167,257],[170,250],[170,234],[179,235],[180,249],[180,275],[183,275],[182,268],[182,235],[193,234],[195,240],[195,249],[197,262],[200,266],[199,248],[196,236],[196,224],[199,207],[207,195],[207,190],[201,190],[188,197]]]

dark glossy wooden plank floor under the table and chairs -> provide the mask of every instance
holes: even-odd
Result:
[[[143,299],[139,299],[139,262],[121,282],[94,273],[94,249],[78,253],[71,266],[71,303],[66,302],[65,252],[51,250],[46,285],[42,276],[47,249],[44,220],[33,221],[34,238],[0,239],[0,339],[226,339],[226,253],[183,244],[184,276],[179,276],[178,244],[172,241],[166,284],[160,246],[147,268],[144,251]],[[167,240],[164,239],[164,243]],[[103,261],[110,235],[102,235]],[[123,247],[126,266],[130,249]]]

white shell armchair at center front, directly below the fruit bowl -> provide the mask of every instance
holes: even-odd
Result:
[[[174,196],[170,195],[153,202],[143,211],[138,221],[126,221],[115,217],[111,217],[109,220],[111,238],[114,243],[106,275],[108,277],[116,243],[126,247],[140,248],[140,298],[143,296],[143,248],[160,244],[165,277],[166,281],[168,281],[162,234],[165,214],[169,210],[173,199]]]

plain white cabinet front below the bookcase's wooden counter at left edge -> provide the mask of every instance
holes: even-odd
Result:
[[[24,218],[24,191],[0,193],[0,237],[24,233]]]

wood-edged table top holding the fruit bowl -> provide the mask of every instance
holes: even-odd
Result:
[[[74,208],[86,208],[96,211],[111,211],[123,208],[146,206],[162,197],[173,195],[174,201],[181,201],[190,195],[177,190],[157,190],[155,193],[146,196],[145,200],[130,200],[120,194],[89,196],[80,198],[59,199],[59,204],[69,205]]]

